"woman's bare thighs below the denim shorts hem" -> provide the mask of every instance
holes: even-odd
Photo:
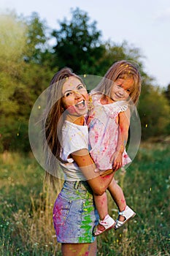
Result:
[[[97,243],[91,244],[61,244],[63,256],[96,256]]]

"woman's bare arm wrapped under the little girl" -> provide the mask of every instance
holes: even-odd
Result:
[[[87,179],[93,193],[96,195],[103,195],[112,181],[113,174],[101,177],[98,173],[95,173],[94,170],[96,169],[96,165],[90,157],[88,149],[81,149],[72,153],[72,158],[80,167],[80,170]]]

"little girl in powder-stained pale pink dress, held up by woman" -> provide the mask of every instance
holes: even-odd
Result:
[[[118,61],[109,68],[104,79],[90,94],[92,100],[88,118],[90,156],[103,175],[131,162],[125,146],[128,140],[131,111],[138,102],[140,91],[139,70],[128,61]],[[119,209],[119,217],[115,224],[117,230],[134,217],[135,213],[126,205],[123,190],[114,178],[108,190]],[[104,218],[104,211],[107,208],[106,197],[106,193],[101,196],[94,195],[100,217],[94,236],[106,230]]]

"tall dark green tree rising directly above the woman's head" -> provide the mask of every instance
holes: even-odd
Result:
[[[76,8],[72,10],[72,20],[65,18],[59,24],[61,29],[52,33],[57,42],[53,47],[53,67],[71,67],[79,75],[94,74],[105,50],[96,21],[90,23],[87,12]]]

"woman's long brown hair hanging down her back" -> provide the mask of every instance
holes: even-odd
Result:
[[[56,72],[50,81],[50,86],[47,93],[47,107],[45,109],[43,118],[43,127],[45,129],[45,162],[46,162],[46,179],[50,178],[54,184],[55,177],[60,177],[58,170],[60,170],[59,163],[61,160],[61,130],[63,121],[66,116],[62,104],[62,89],[66,79],[74,76],[78,78],[81,83],[82,79],[72,72],[72,69],[66,67]],[[83,83],[84,84],[84,83]],[[59,161],[56,161],[58,159]]]

